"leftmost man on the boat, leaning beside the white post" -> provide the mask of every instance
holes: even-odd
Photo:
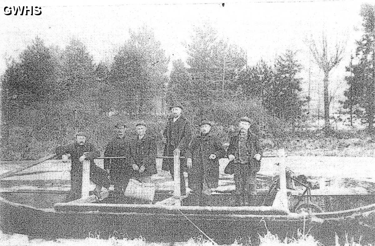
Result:
[[[56,155],[61,156],[62,154],[70,154],[72,160],[71,194],[68,196],[68,200],[76,200],[82,196],[82,170],[84,160],[90,160],[90,180],[96,184],[94,194],[101,199],[102,187],[109,187],[107,172],[94,163],[94,159],[100,156],[100,152],[94,145],[87,142],[87,134],[85,132],[77,132],[76,140],[72,144],[57,147]]]

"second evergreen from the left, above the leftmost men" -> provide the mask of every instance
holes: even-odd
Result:
[[[86,46],[72,40],[61,57],[62,83],[56,104],[61,109],[64,123],[75,129],[89,127],[100,114],[98,110],[99,83],[95,64]]]

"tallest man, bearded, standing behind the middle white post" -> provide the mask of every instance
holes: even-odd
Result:
[[[181,115],[182,105],[180,103],[172,104],[169,109],[171,110],[171,115],[167,118],[163,132],[165,139],[164,156],[173,156],[174,153],[180,153],[181,156],[185,156],[187,146],[191,140],[192,127]],[[183,175],[185,167],[186,159],[181,159],[181,195],[186,194],[185,177]],[[169,171],[173,179],[173,159],[163,159],[162,170]]]

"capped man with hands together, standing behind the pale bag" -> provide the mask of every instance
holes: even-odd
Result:
[[[130,166],[132,178],[151,183],[151,175],[156,171],[156,139],[147,133],[145,122],[136,124],[136,135],[130,139]]]

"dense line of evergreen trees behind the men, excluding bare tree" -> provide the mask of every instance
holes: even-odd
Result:
[[[344,107],[363,108],[360,117],[373,130],[373,6],[364,5],[361,14],[365,34],[357,41],[358,62],[347,67]],[[162,124],[160,115],[172,101],[182,102],[193,123],[205,118],[227,129],[244,115],[272,134],[303,120],[309,98],[301,96],[302,66],[292,50],[249,66],[241,47],[204,24],[186,43],[186,61],[172,61],[168,76],[169,58],[152,30],[129,34],[113,61],[98,64],[80,40],[60,50],[36,37],[0,77],[3,139],[17,135],[11,129],[19,126],[36,140],[61,139],[85,128],[102,141],[114,120],[108,112],[129,120],[150,116]]]

